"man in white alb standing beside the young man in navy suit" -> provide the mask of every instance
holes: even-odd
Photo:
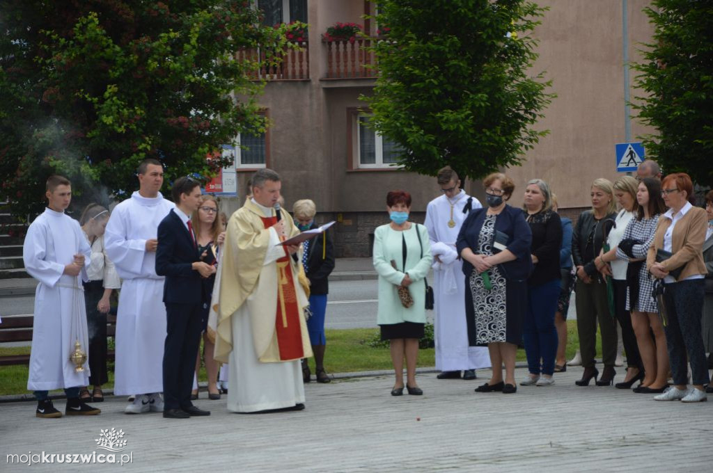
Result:
[[[104,233],[106,254],[123,279],[116,316],[114,394],[135,395],[127,414],[163,412],[163,276],[155,271],[158,224],[175,205],[159,192],[163,166],[138,167],[138,192],[118,204]]]

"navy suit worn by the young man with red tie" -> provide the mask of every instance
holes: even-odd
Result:
[[[192,269],[198,249],[183,220],[172,209],[158,225],[156,274],[165,276],[166,341],[163,349],[164,409],[186,409],[200,346],[203,306],[201,276]]]

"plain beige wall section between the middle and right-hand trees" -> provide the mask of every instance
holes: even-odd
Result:
[[[539,0],[549,6],[534,32],[540,58],[533,71],[546,71],[558,96],[537,127],[550,130],[508,174],[518,189],[512,203],[522,203],[524,184],[535,177],[558,194],[560,207],[590,206],[590,185],[597,177],[616,180],[615,144],[626,141],[624,38],[621,0]],[[628,56],[650,41],[653,28],[643,13],[647,0],[627,0]],[[630,73],[630,93],[635,73]],[[631,139],[651,130],[631,120]]]

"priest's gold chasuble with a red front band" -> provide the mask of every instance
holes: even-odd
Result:
[[[299,234],[282,210],[287,237]],[[227,224],[220,261],[220,296],[215,330],[215,359],[227,363],[232,351],[232,317],[250,317],[255,355],[262,363],[299,360],[312,356],[304,308],[307,295],[299,284],[302,264],[277,247],[270,227],[277,217],[265,217],[262,208],[247,201]],[[301,259],[298,259],[301,261]]]

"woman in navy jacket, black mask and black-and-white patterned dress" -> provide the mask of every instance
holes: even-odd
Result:
[[[456,241],[470,289],[466,289],[468,342],[488,345],[493,365],[493,376],[476,392],[515,393],[515,353],[522,340],[527,279],[533,267],[532,232],[523,212],[506,204],[515,190],[513,180],[496,172],[483,184],[488,208],[468,215]]]

